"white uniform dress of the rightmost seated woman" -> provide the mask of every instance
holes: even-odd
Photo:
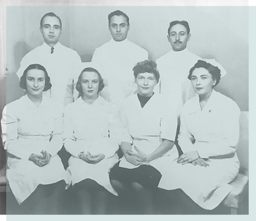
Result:
[[[239,171],[239,117],[238,105],[214,90],[202,111],[198,96],[186,102],[179,145],[183,152],[197,150],[200,158],[210,160],[209,166],[173,164],[169,174],[172,182],[164,189],[181,188],[202,208],[216,208],[232,190],[228,183]]]

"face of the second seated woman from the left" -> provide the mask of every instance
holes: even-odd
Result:
[[[99,91],[99,76],[95,72],[83,72],[81,76],[83,96],[96,99]]]

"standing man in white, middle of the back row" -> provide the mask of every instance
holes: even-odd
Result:
[[[130,23],[125,13],[117,10],[108,18],[112,39],[95,50],[92,62],[98,63],[102,69],[106,87],[101,96],[120,106],[126,97],[136,93],[133,67],[148,59],[148,53],[126,38]]]

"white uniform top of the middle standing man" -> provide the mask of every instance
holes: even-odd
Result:
[[[136,63],[148,59],[146,50],[127,38],[123,41],[111,39],[97,48],[92,62],[101,66],[105,87],[100,95],[107,101],[121,106],[124,99],[137,91],[133,68]]]

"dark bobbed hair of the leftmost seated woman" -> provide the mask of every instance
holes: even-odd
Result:
[[[45,72],[46,83],[45,83],[45,88],[44,88],[43,91],[49,90],[51,88],[51,86],[52,86],[52,84],[50,82],[50,77],[49,77],[45,67],[40,65],[40,64],[30,64],[29,67],[26,68],[26,70],[23,72],[22,77],[20,77],[19,86],[22,89],[27,90],[26,75],[27,75],[29,70],[33,70],[33,69],[42,70],[42,71]]]

